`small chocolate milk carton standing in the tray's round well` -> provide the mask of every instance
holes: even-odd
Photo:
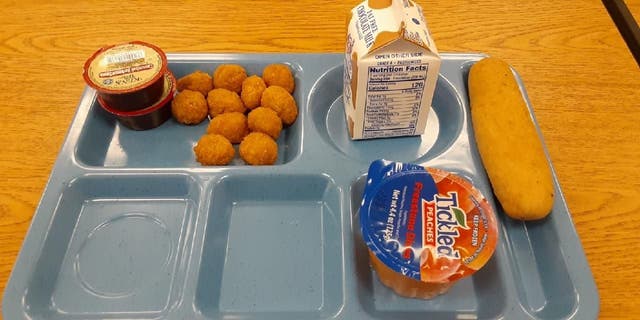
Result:
[[[347,19],[344,109],[352,139],[420,135],[440,69],[422,8],[369,0]]]

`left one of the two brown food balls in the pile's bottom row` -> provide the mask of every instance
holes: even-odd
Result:
[[[219,134],[205,134],[193,147],[196,160],[206,166],[223,166],[229,164],[236,155],[231,142]]]

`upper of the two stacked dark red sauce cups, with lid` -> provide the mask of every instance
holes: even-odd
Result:
[[[167,56],[142,41],[106,46],[84,64],[85,82],[110,107],[131,111],[157,102],[163,93]]]

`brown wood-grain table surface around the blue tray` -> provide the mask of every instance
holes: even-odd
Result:
[[[600,295],[640,317],[640,70],[605,8],[578,1],[418,1],[441,52],[484,52],[524,79]],[[0,291],[101,46],[341,52],[355,1],[2,1]],[[640,13],[640,1],[627,1]],[[8,320],[8,319],[7,319]]]

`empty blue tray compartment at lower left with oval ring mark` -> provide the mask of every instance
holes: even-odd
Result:
[[[25,293],[33,318],[167,311],[198,188],[187,175],[82,176],[63,189]],[[109,316],[111,315],[111,316]]]

